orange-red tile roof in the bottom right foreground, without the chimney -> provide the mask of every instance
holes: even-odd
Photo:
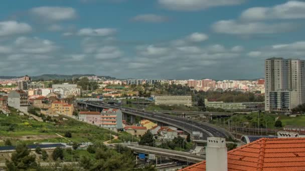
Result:
[[[206,162],[184,171],[206,170]],[[305,170],[305,138],[261,138],[228,151],[228,170]]]

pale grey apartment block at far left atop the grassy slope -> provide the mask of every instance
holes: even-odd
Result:
[[[23,90],[14,90],[8,93],[8,105],[22,112],[28,112],[28,93]]]

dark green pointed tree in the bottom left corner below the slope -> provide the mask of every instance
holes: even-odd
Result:
[[[18,144],[15,152],[12,153],[11,161],[6,161],[8,170],[28,170],[35,169],[37,163],[35,161],[36,156],[30,155],[30,149],[25,143]]]

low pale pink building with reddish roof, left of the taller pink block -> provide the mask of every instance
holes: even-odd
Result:
[[[100,126],[101,113],[98,111],[80,111],[77,119]]]

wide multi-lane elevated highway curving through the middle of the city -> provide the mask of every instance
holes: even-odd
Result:
[[[207,137],[210,136],[233,138],[233,135],[224,128],[220,128],[209,123],[198,122],[192,119],[187,119],[179,116],[164,114],[160,112],[142,111],[134,108],[121,107],[115,104],[111,105],[111,104],[91,102],[91,101],[80,101],[79,103],[83,103],[95,107],[102,107],[102,108],[119,108],[122,110],[123,113],[137,115],[143,118],[166,123],[178,127],[180,129],[183,129],[189,132],[191,135],[193,135],[192,134],[193,131],[200,131],[203,133],[203,137],[201,139],[207,139]]]

